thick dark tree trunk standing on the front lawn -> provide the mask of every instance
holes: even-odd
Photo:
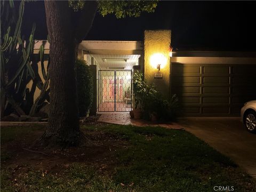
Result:
[[[50,36],[50,115],[44,145],[78,146],[86,141],[79,129],[76,93],[76,43],[67,1],[45,1]]]

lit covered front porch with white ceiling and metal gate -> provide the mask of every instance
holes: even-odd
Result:
[[[143,43],[137,41],[83,41],[80,59],[93,75],[91,115],[132,110],[133,68],[143,71]]]

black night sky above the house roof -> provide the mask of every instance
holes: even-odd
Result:
[[[146,29],[171,29],[179,50],[256,51],[256,2],[161,1],[155,13],[116,19],[97,13],[85,40],[143,41]],[[46,39],[44,2],[25,5],[24,27],[37,23],[37,39]]]

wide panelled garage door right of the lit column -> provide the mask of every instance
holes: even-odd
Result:
[[[256,99],[256,65],[172,63],[171,84],[186,116],[239,116]]]

